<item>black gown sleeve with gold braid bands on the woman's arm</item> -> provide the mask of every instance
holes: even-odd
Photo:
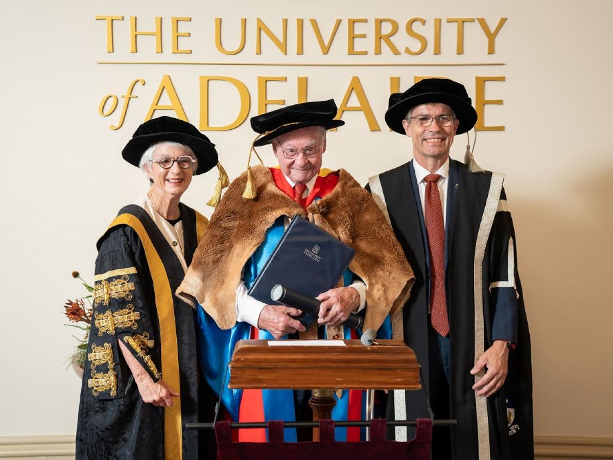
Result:
[[[123,397],[130,372],[121,340],[154,381],[159,373],[158,316],[153,284],[136,233],[118,227],[101,244],[94,275],[93,318],[85,374],[94,397]]]

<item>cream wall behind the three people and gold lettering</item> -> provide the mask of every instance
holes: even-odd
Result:
[[[286,77],[268,83],[268,99],[297,101],[297,77],[308,77],[308,99],[333,97],[337,104],[357,75],[364,86],[381,131],[369,131],[361,112],[346,112],[347,122],[330,133],[324,165],[346,167],[362,183],[368,176],[409,159],[408,140],[387,131],[390,77],[400,77],[402,90],[417,75],[448,76],[464,83],[474,98],[475,77],[504,76],[486,84],[487,125],[504,125],[501,132],[479,132],[475,151],[479,163],[506,173],[505,186],[517,231],[519,267],[533,343],[535,433],[594,435],[613,432],[608,398],[613,380],[613,323],[609,284],[613,270],[607,186],[613,176],[608,144],[613,93],[613,34],[609,17],[613,4],[518,0],[512,4],[467,0],[451,2],[337,2],[307,4],[270,0],[262,4],[227,1],[219,4],[177,2],[64,0],[12,2],[2,6],[0,28],[0,145],[7,161],[1,186],[0,230],[3,293],[0,321],[0,394],[4,396],[0,435],[71,434],[74,432],[80,381],[65,369],[74,339],[63,324],[62,305],[81,294],[70,278],[79,270],[91,280],[94,241],[121,205],[147,190],[137,169],[119,152],[151,105],[158,85],[170,75],[189,121],[200,121],[199,75],[224,75],[243,82],[251,96],[249,116],[257,113],[257,77]],[[123,15],[115,22],[115,52],[105,52],[104,21],[96,15]],[[138,39],[139,52],[129,53],[129,16],[141,30],[153,29],[162,17],[164,52],[154,53],[153,37]],[[170,18],[191,17],[180,30],[191,37],[180,47],[191,55],[170,53]],[[214,18],[223,18],[224,45],[240,18],[247,19],[245,50],[235,56],[215,48]],[[254,24],[260,17],[276,34],[288,18],[288,52],[284,56],[262,40],[255,53]],[[403,31],[409,18],[421,17],[414,29],[427,36],[424,53],[394,56],[384,47],[373,55],[375,18],[394,18],[400,29],[392,39],[398,48],[414,50],[419,43]],[[455,24],[446,18],[485,18],[495,26],[508,20],[487,55],[487,41],[478,23],[465,24],[465,53],[456,54]],[[304,18],[304,54],[296,55],[295,18]],[[329,34],[340,18],[329,55],[322,56],[309,18]],[[357,50],[348,56],[347,19],[357,23]],[[443,18],[441,54],[433,54],[433,19]],[[97,61],[194,61],[209,63],[503,63],[503,66],[230,66],[97,64]],[[118,109],[107,118],[97,113],[105,94],[126,94],[137,84],[124,126]],[[166,97],[166,96],[165,96]],[[211,125],[230,123],[238,112],[237,91],[227,83],[211,83]],[[166,104],[167,99],[162,99]],[[354,95],[350,104],[357,105]],[[278,105],[271,105],[272,110]],[[155,116],[172,112],[161,110]],[[248,121],[232,131],[206,132],[218,146],[230,177],[245,168],[254,134]],[[461,159],[464,139],[457,138],[452,155]],[[272,163],[272,154],[260,149]],[[22,163],[23,162],[23,163]],[[21,166],[24,164],[25,166]],[[215,184],[213,172],[192,183],[185,202],[210,215],[205,202]]]

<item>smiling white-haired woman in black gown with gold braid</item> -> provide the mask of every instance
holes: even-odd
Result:
[[[197,432],[182,428],[198,414],[194,316],[173,293],[208,221],[180,199],[192,176],[217,165],[218,194],[226,176],[215,145],[176,118],[140,125],[122,156],[150,189],[97,242],[76,456],[197,458]]]

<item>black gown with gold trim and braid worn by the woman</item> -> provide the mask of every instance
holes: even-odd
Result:
[[[183,204],[180,210],[189,264],[197,247],[197,223],[200,231],[206,218]],[[197,421],[198,413],[194,314],[173,295],[183,267],[137,205],[120,210],[97,248],[76,458],[196,459],[197,432],[182,429]],[[175,398],[173,408],[143,402],[119,340],[154,381],[163,378],[178,391],[180,401]]]

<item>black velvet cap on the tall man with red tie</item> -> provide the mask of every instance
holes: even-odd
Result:
[[[460,121],[455,134],[470,131],[477,122],[477,112],[471,105],[466,88],[449,79],[424,79],[415,83],[404,93],[389,96],[389,106],[385,113],[387,126],[400,134],[406,134],[402,120],[406,113],[421,104],[441,102],[449,105]]]

